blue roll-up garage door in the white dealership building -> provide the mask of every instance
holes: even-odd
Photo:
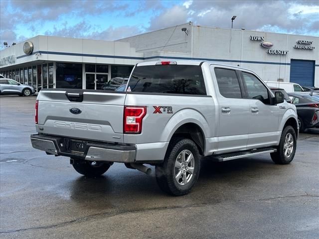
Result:
[[[315,61],[291,60],[290,82],[301,86],[315,85]]]

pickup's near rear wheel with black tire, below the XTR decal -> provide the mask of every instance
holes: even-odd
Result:
[[[200,154],[190,139],[177,139],[168,146],[164,162],[155,168],[161,190],[181,196],[189,193],[200,171]]]

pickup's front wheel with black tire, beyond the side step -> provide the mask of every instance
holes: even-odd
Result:
[[[270,153],[276,164],[288,164],[295,156],[297,147],[296,131],[292,126],[286,126],[281,134],[277,152]]]

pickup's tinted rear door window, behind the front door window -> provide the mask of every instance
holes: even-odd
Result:
[[[226,98],[242,98],[235,70],[215,68],[219,93]]]

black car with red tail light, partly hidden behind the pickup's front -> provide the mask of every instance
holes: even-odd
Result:
[[[289,93],[297,108],[299,131],[319,127],[319,96],[309,93]]]

